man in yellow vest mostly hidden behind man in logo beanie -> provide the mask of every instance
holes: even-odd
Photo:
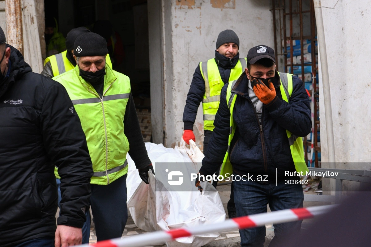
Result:
[[[76,60],[73,58],[73,44],[77,37],[81,34],[89,33],[90,30],[85,27],[78,27],[71,29],[66,37],[66,48],[67,50],[56,55],[47,57],[44,61],[44,69],[41,72],[43,76],[53,78],[59,74],[63,74],[66,71],[72,70],[76,66]],[[108,66],[112,68],[111,59],[109,55],[106,57]]]

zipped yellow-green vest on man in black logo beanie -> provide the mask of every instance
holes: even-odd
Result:
[[[80,76],[78,66],[53,77],[66,88],[80,118],[93,163],[91,183],[101,185],[128,173],[126,154],[129,151],[124,116],[131,91],[130,80],[107,64],[105,71],[102,97]],[[55,175],[59,178],[57,169]]]

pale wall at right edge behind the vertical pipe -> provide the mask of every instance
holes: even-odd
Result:
[[[331,87],[336,168],[371,170],[370,0],[322,0]],[[319,47],[321,49],[321,47]],[[321,79],[321,73],[319,74]],[[322,166],[329,167],[322,80]],[[368,162],[368,163],[367,163]]]

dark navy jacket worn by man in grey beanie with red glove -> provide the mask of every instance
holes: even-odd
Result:
[[[237,53],[233,59],[221,55],[219,52],[215,51],[215,61],[218,65],[221,80],[224,84],[228,83],[231,69],[236,66],[239,60],[240,54]],[[187,94],[187,100],[185,101],[184,111],[183,111],[183,122],[184,130],[193,130],[193,124],[196,120],[198,106],[205,94],[205,80],[201,75],[200,64],[198,64],[196,70],[193,74],[193,79],[191,82],[191,87]]]

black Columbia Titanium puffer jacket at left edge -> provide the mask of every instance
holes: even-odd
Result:
[[[54,238],[58,224],[82,227],[93,174],[85,134],[65,88],[32,72],[11,48],[0,83],[0,246]]]

